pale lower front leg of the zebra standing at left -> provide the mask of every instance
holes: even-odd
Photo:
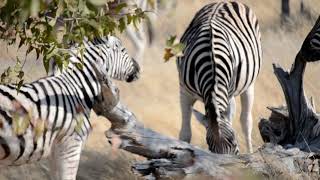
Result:
[[[55,144],[50,156],[52,180],[75,180],[77,176],[82,140],[70,136],[66,141]]]

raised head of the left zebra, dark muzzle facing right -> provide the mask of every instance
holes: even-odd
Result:
[[[120,39],[115,36],[97,38],[93,45],[98,47],[101,58],[97,59],[97,68],[109,77],[126,82],[139,78],[140,66],[127,52]]]

